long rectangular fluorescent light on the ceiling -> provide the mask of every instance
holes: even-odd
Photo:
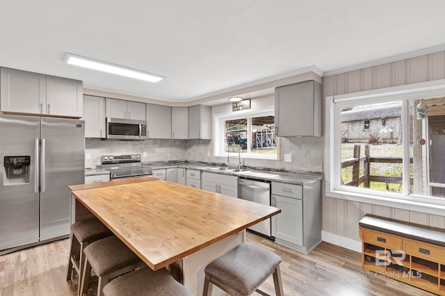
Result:
[[[114,65],[111,63],[102,62],[100,60],[93,60],[92,58],[85,58],[83,56],[76,56],[75,54],[66,53],[63,57],[65,63],[70,65],[76,65],[79,67],[86,67],[88,69],[95,69],[102,72],[111,74],[117,74],[121,76],[127,76],[134,79],[140,79],[149,82],[158,82],[164,79],[163,76],[150,74],[147,72],[122,67],[120,65]]]

